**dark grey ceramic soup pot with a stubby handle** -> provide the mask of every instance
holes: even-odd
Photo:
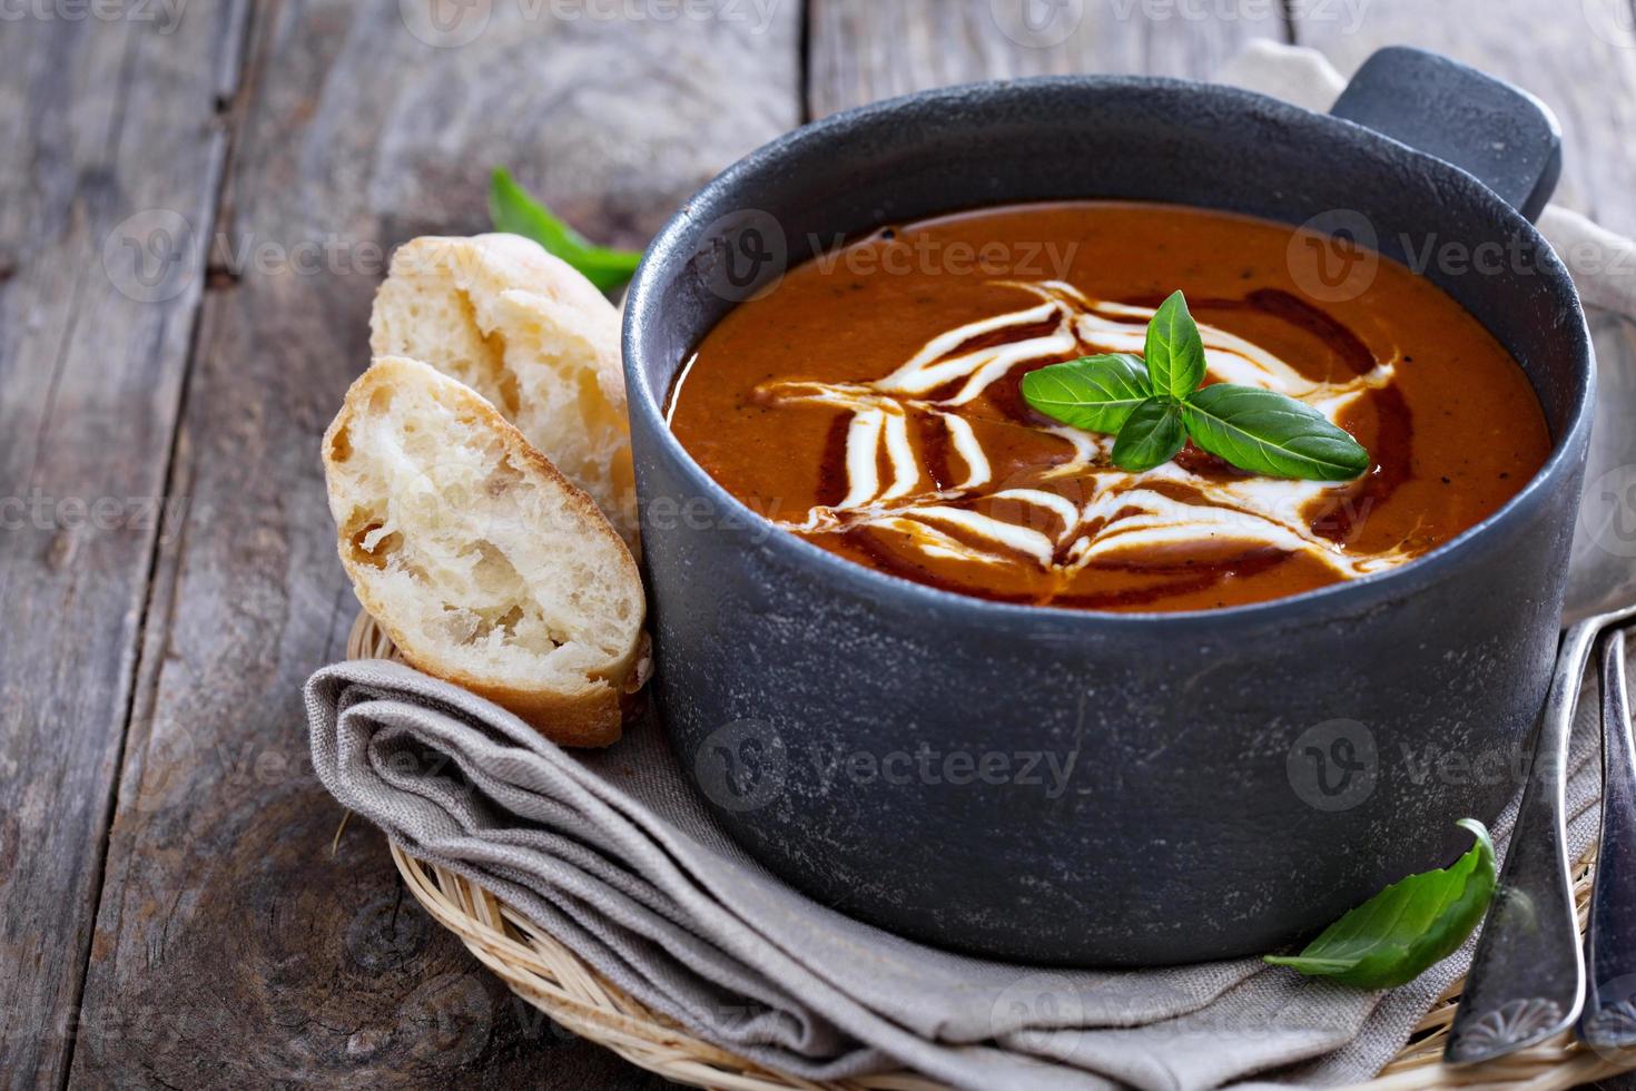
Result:
[[[625,368],[658,698],[682,767],[757,860],[942,947],[1173,963],[1307,936],[1446,864],[1469,844],[1458,818],[1490,821],[1520,792],[1593,381],[1574,288],[1528,219],[1554,183],[1556,128],[1513,88],[1415,51],[1378,54],[1337,114],[1157,79],[937,90],[792,132],[654,240]],[[1065,198],[1351,229],[1405,263],[1427,240],[1503,255],[1425,275],[1521,361],[1549,461],[1399,569],[1109,615],[851,564],[748,510],[666,427],[699,340],[815,247]]]

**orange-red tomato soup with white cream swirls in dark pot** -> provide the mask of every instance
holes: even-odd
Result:
[[[1348,276],[1324,278],[1325,262]],[[1206,383],[1312,406],[1369,469],[1265,478],[1188,445],[1129,473],[1111,437],[1027,406],[1034,368],[1140,353],[1175,290]],[[849,561],[1122,612],[1261,602],[1407,564],[1494,514],[1551,447],[1518,363],[1428,280],[1283,224],[1108,201],[834,245],[710,330],[666,411],[728,492]]]

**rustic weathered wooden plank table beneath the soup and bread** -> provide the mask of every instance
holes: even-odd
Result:
[[[512,1001],[375,829],[332,851],[306,756],[301,682],[355,612],[317,437],[384,250],[484,229],[491,165],[640,247],[883,95],[1407,41],[1538,92],[1559,200],[1636,234],[1629,0],[437,2],[438,33],[425,0],[5,5],[5,1086],[659,1083]]]

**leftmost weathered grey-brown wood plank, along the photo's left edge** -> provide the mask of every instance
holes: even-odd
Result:
[[[0,1084],[59,1086],[244,5],[0,34]],[[169,497],[177,499],[177,497]],[[167,519],[169,515],[169,519]]]

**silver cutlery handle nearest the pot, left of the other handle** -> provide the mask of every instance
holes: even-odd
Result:
[[[1562,636],[1500,887],[1443,1052],[1451,1065],[1513,1053],[1561,1034],[1579,1017],[1585,963],[1562,797],[1579,685],[1605,622],[1580,622]]]

